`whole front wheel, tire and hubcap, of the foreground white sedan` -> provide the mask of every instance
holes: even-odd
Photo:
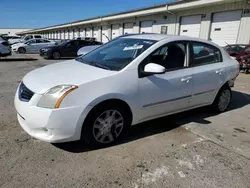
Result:
[[[129,119],[128,113],[122,106],[101,105],[88,115],[83,125],[82,137],[94,147],[110,146],[127,132]]]

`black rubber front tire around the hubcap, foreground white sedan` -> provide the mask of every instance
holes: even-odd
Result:
[[[122,115],[123,117],[123,128],[118,137],[115,138],[112,128],[110,132],[113,135],[114,140],[110,143],[101,143],[97,141],[94,136],[94,124],[97,121],[97,118],[100,117],[105,111],[108,110],[116,110]],[[114,104],[114,103],[103,103],[95,107],[91,112],[88,114],[82,128],[82,136],[81,138],[90,146],[95,148],[102,148],[108,147],[115,144],[118,140],[124,137],[127,134],[129,127],[131,126],[131,117],[128,113],[127,108],[124,105]],[[113,125],[112,125],[113,127]],[[103,135],[102,135],[103,136]]]

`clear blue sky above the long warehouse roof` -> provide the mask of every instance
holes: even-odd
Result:
[[[47,27],[169,1],[171,0],[0,0],[0,28]]]

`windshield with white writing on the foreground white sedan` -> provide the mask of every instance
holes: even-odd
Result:
[[[146,39],[119,38],[76,60],[103,69],[119,71],[155,42]]]

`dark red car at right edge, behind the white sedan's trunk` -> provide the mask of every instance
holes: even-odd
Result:
[[[249,72],[250,69],[250,44],[233,44],[227,45],[224,49],[228,54],[240,64],[240,70],[244,70],[245,73]]]

